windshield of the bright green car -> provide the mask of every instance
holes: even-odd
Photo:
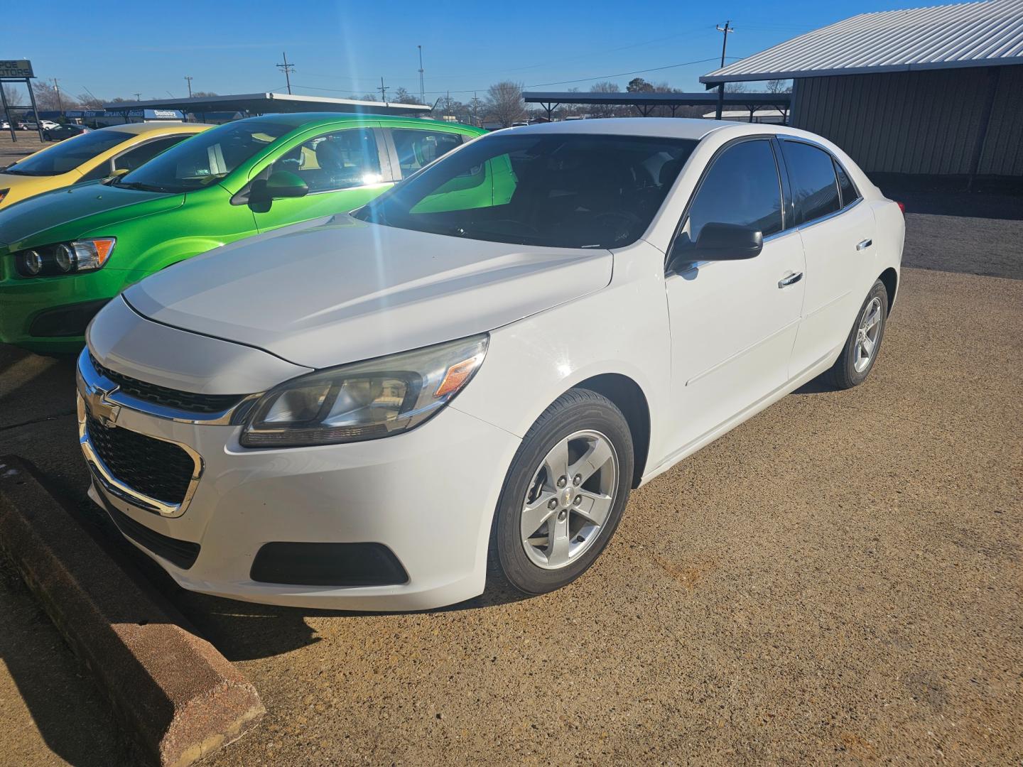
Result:
[[[163,192],[201,189],[220,181],[293,129],[269,120],[225,123],[158,154],[122,176],[117,185]]]

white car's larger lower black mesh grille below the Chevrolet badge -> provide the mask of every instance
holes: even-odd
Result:
[[[164,503],[181,503],[195,462],[179,445],[88,416],[86,428],[96,455],[118,480]]]

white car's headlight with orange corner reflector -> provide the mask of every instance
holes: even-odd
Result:
[[[488,340],[473,335],[293,378],[256,403],[241,445],[333,445],[407,432],[462,390]]]

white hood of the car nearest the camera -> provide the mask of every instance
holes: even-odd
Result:
[[[337,216],[211,251],[124,296],[158,322],[323,368],[492,330],[601,289],[612,263],[609,251]]]

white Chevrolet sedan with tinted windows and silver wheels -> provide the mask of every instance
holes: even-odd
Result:
[[[90,495],[196,591],[549,591],[632,488],[814,376],[861,382],[902,240],[899,206],[798,130],[491,134],[112,301],[78,363]]]

